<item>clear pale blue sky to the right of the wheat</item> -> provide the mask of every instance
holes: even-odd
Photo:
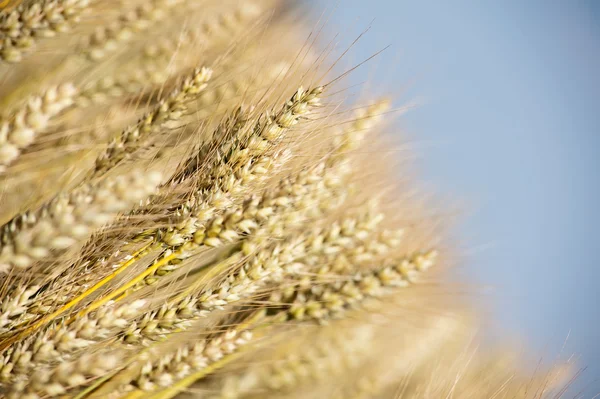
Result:
[[[465,264],[495,336],[586,367],[600,393],[600,1],[311,0],[352,66],[418,107],[398,120],[421,176],[466,203]],[[383,89],[383,90],[381,90]],[[368,88],[367,88],[368,91]]]

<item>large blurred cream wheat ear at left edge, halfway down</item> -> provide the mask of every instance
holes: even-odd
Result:
[[[119,212],[130,209],[156,190],[158,172],[135,170],[95,185],[59,195],[34,212],[2,226],[0,265],[5,272],[26,269],[36,261],[82,243]]]

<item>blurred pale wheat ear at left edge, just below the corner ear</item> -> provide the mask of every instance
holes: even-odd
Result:
[[[0,173],[44,132],[51,118],[73,105],[76,95],[72,84],[62,84],[42,96],[27,99],[23,106],[0,120]]]

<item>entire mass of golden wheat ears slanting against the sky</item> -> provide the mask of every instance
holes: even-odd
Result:
[[[301,8],[0,8],[1,397],[553,389],[465,361],[446,222]]]

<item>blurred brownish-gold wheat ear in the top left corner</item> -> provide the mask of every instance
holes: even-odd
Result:
[[[19,62],[36,41],[64,34],[92,0],[24,2],[0,16],[0,59]]]

